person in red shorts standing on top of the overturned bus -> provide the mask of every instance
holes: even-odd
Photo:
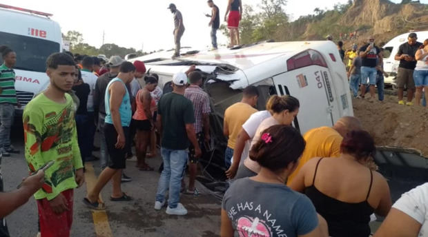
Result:
[[[240,26],[240,20],[242,16],[242,1],[241,0],[228,0],[226,14],[224,15],[224,21],[227,21],[227,28],[229,29],[231,44],[229,48],[233,45],[240,44],[240,31],[238,27]]]

